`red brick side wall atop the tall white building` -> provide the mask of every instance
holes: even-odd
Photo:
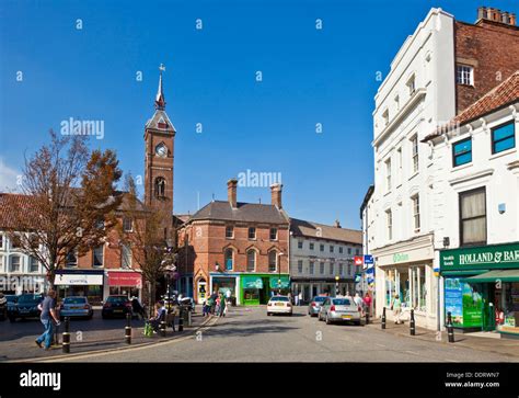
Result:
[[[454,23],[455,62],[474,68],[474,87],[457,84],[457,113],[519,69],[519,29],[482,20]]]

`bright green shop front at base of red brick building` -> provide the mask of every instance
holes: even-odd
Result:
[[[288,294],[290,278],[287,274],[242,274],[240,276],[240,304],[267,304],[274,294]]]

